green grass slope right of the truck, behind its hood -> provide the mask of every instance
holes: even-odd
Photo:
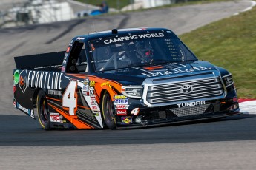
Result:
[[[240,98],[256,98],[256,8],[180,36],[198,58],[232,72]]]

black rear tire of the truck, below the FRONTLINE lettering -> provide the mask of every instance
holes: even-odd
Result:
[[[40,125],[43,129],[50,130],[50,112],[45,92],[42,90],[37,95],[36,106]]]

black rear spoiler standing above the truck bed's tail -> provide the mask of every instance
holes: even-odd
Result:
[[[62,66],[65,51],[15,57],[17,69],[39,69]]]

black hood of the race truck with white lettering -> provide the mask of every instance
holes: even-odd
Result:
[[[196,73],[217,70],[208,61],[186,61],[180,63],[168,63],[149,65],[144,67],[131,67],[116,69],[97,74],[98,77],[117,81],[124,86],[141,85],[146,78],[154,78],[166,75],[180,75],[184,73]]]

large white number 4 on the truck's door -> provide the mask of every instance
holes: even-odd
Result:
[[[63,109],[68,110],[69,115],[75,115],[77,110],[77,81],[70,81],[62,98]]]

